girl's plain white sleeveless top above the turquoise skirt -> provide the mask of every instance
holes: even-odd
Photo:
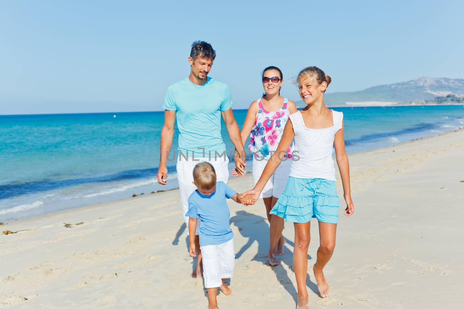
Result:
[[[332,158],[335,133],[342,128],[343,113],[332,111],[333,125],[323,129],[309,129],[304,125],[300,111],[289,119],[295,132],[295,156],[290,176],[295,178],[322,178],[335,181],[335,164]],[[299,157],[299,158],[298,158]]]

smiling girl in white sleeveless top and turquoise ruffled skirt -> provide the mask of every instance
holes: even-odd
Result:
[[[243,194],[243,196],[251,194],[255,197],[260,195],[267,180],[280,163],[277,158],[279,151],[286,150],[295,138],[299,160],[292,161],[287,185],[272,208],[271,214],[282,217],[288,222],[294,222],[293,266],[298,286],[298,309],[308,308],[306,272],[311,218],[319,221],[320,246],[317,249],[316,264],[313,266],[317,288],[322,297],[328,296],[330,291],[322,270],[334,252],[340,206],[335,188],[332,146],[335,146],[336,160],[342,177],[343,196],[347,203],[345,216],[350,216],[354,212],[350,195],[348,158],[343,139],[343,114],[324,105],[324,92],[330,81],[330,77],[319,68],[308,67],[300,71],[297,82],[300,96],[307,106],[290,115],[291,121],[285,125],[277,152],[266,164],[255,187]],[[274,221],[271,222],[271,230],[273,223]]]

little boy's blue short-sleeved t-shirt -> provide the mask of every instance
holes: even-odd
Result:
[[[211,195],[202,195],[195,190],[188,198],[186,217],[201,220],[200,246],[219,245],[233,238],[226,199],[235,193],[237,192],[226,183],[218,181],[216,190]]]

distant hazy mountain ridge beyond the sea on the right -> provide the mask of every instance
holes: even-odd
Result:
[[[446,95],[464,96],[464,79],[419,77],[408,82],[374,86],[361,91],[328,93],[324,101],[327,106],[393,105],[427,101]],[[306,105],[303,101],[297,101],[296,106]]]

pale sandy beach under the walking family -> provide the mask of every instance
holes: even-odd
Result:
[[[331,292],[318,296],[309,266],[310,308],[463,308],[463,158],[464,129],[350,155],[355,212],[343,216],[337,181]],[[229,185],[251,189],[251,175]],[[292,224],[282,263],[271,267],[262,201],[228,204],[237,256],[226,281],[232,296],[220,293],[219,308],[295,308]],[[319,244],[312,222],[309,265]],[[207,306],[202,279],[189,277],[194,260],[177,189],[3,223],[1,231],[26,231],[0,235],[0,307]]]

